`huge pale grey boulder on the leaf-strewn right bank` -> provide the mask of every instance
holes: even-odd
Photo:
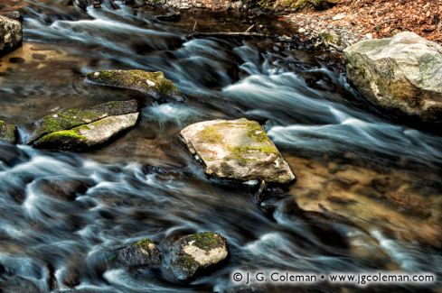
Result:
[[[360,41],[344,51],[347,76],[362,96],[427,122],[442,116],[442,47],[414,32]]]

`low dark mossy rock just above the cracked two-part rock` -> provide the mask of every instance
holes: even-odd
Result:
[[[182,100],[183,94],[163,72],[143,70],[103,70],[89,72],[86,79],[94,84],[123,87],[146,93],[157,99]]]

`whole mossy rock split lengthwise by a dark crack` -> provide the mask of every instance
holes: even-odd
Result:
[[[67,109],[39,120],[29,143],[43,149],[83,151],[135,126],[137,111],[136,100]]]

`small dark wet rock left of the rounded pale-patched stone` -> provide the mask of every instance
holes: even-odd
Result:
[[[128,268],[156,268],[161,265],[163,254],[156,248],[155,243],[145,238],[120,250],[118,261]]]

